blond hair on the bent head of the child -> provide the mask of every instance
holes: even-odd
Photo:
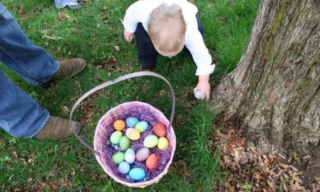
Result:
[[[151,12],[148,34],[158,51],[165,53],[181,51],[185,33],[186,23],[178,5],[163,3]]]

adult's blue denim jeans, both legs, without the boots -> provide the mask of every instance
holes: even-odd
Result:
[[[58,62],[32,45],[10,12],[0,3],[0,62],[29,84],[48,82]],[[50,114],[0,71],[0,127],[15,137],[31,138],[40,132]]]

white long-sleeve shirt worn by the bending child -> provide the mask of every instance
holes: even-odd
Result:
[[[162,3],[177,4],[182,10],[184,21],[186,22],[186,34],[184,45],[191,52],[193,60],[197,65],[195,75],[209,75],[215,70],[212,64],[209,50],[204,45],[204,40],[198,30],[198,22],[195,15],[198,8],[186,0],[140,0],[136,1],[127,9],[122,23],[129,33],[136,32],[138,23],[142,23],[148,32],[149,16],[151,12],[162,5]]]

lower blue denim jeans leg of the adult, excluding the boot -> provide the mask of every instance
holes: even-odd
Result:
[[[31,138],[47,123],[47,110],[0,71],[0,127],[15,137]]]

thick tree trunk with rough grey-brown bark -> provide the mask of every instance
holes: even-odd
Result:
[[[260,152],[319,144],[319,23],[317,0],[262,0],[237,69],[213,91],[209,106]]]

